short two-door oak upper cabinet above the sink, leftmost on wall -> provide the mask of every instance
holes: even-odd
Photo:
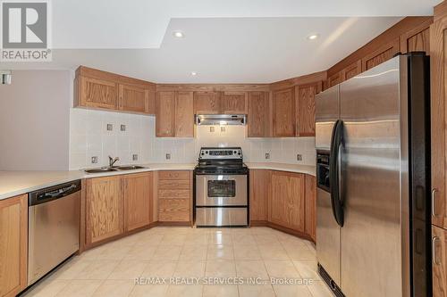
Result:
[[[144,80],[80,66],[74,107],[154,114],[155,87]]]

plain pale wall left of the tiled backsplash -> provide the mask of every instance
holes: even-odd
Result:
[[[0,85],[0,170],[69,168],[72,72],[16,70]]]

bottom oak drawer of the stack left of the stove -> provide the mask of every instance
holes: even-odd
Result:
[[[164,199],[159,201],[158,220],[162,222],[190,221],[190,199]]]

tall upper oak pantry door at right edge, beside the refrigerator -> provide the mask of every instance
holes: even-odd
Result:
[[[447,16],[430,27],[432,224],[447,228],[445,75],[447,65]]]

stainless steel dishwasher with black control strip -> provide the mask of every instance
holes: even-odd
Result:
[[[80,180],[29,195],[28,285],[80,246]]]

